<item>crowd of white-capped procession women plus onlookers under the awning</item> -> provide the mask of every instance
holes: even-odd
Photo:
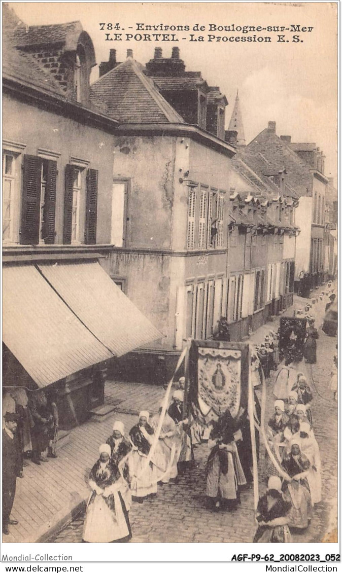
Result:
[[[314,507],[322,499],[320,450],[314,436],[313,387],[310,365],[316,363],[318,328],[331,300],[332,286],[296,312],[306,318],[304,359],[286,363],[279,356],[279,332],[270,331],[259,347],[251,346],[252,386],[257,390],[263,376],[274,411],[267,422],[266,444],[259,456],[260,497],[254,542],[286,543],[292,531],[309,527]],[[327,300],[330,303],[327,303]],[[309,365],[309,367],[308,367]],[[274,372],[272,381],[271,372]],[[337,354],[330,384],[337,397]],[[91,489],[85,513],[85,543],[124,543],[132,537],[129,512],[132,503],[153,499],[164,484],[177,484],[178,477],[197,465],[194,452],[208,445],[205,465],[205,497],[213,512],[236,511],[244,488],[252,484],[250,427],[246,411],[232,418],[226,410],[203,425],[187,418],[184,411],[185,378],[178,380],[172,399],[161,403],[156,415],[139,413],[127,429],[115,421],[89,476]],[[255,415],[261,412],[254,394]],[[165,411],[166,406],[166,411]],[[18,522],[11,519],[17,478],[23,478],[31,461],[41,465],[57,457],[59,428],[57,395],[54,391],[6,388],[3,393],[3,533]],[[157,435],[158,434],[158,435]],[[157,437],[157,439],[156,439]],[[257,437],[259,434],[257,432]]]

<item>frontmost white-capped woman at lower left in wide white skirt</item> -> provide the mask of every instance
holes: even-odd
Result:
[[[130,541],[128,485],[102,444],[100,458],[93,466],[89,485],[91,495],[85,512],[82,540],[85,543],[127,543]]]

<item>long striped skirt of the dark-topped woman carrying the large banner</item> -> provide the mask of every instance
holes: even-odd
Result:
[[[207,497],[219,499],[238,499],[238,480],[236,479],[234,461],[231,452],[228,452],[228,471],[221,472],[219,456],[212,460],[211,468],[207,474]]]

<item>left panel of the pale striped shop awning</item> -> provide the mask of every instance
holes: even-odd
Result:
[[[3,342],[39,388],[111,358],[33,265],[2,272]]]

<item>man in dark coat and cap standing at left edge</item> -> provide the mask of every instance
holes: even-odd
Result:
[[[17,476],[20,475],[20,448],[17,430],[19,415],[6,412],[2,430],[2,532],[9,535],[9,525],[17,525],[18,521],[10,519]]]

